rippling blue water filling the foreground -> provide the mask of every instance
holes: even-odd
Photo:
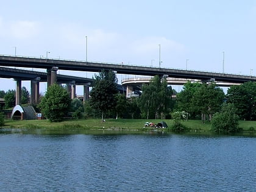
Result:
[[[256,137],[11,132],[0,130],[0,191],[256,189]]]

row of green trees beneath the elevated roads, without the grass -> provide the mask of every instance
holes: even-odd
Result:
[[[187,82],[183,90],[176,93],[168,86],[165,78],[155,76],[149,84],[141,86],[141,96],[126,98],[118,92],[117,79],[113,71],[101,71],[93,77],[90,99],[81,102],[71,100],[66,87],[51,85],[41,98],[38,108],[49,121],[62,121],[65,116],[72,118],[176,118],[177,112],[186,114],[186,119],[212,121],[219,113],[230,112],[237,119],[255,121],[256,83],[247,82],[233,85],[227,94],[215,83]],[[15,91],[0,91],[5,98],[5,108],[15,105]],[[21,103],[29,102],[29,91],[22,88]],[[225,105],[225,106],[224,106]],[[227,106],[228,105],[228,106]],[[179,116],[179,115],[178,115]],[[215,121],[213,121],[215,122]]]

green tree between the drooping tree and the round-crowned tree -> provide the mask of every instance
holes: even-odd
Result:
[[[177,110],[185,111],[192,117],[196,116],[192,99],[196,91],[201,87],[202,84],[192,83],[188,81],[183,86],[183,90],[177,94]]]

